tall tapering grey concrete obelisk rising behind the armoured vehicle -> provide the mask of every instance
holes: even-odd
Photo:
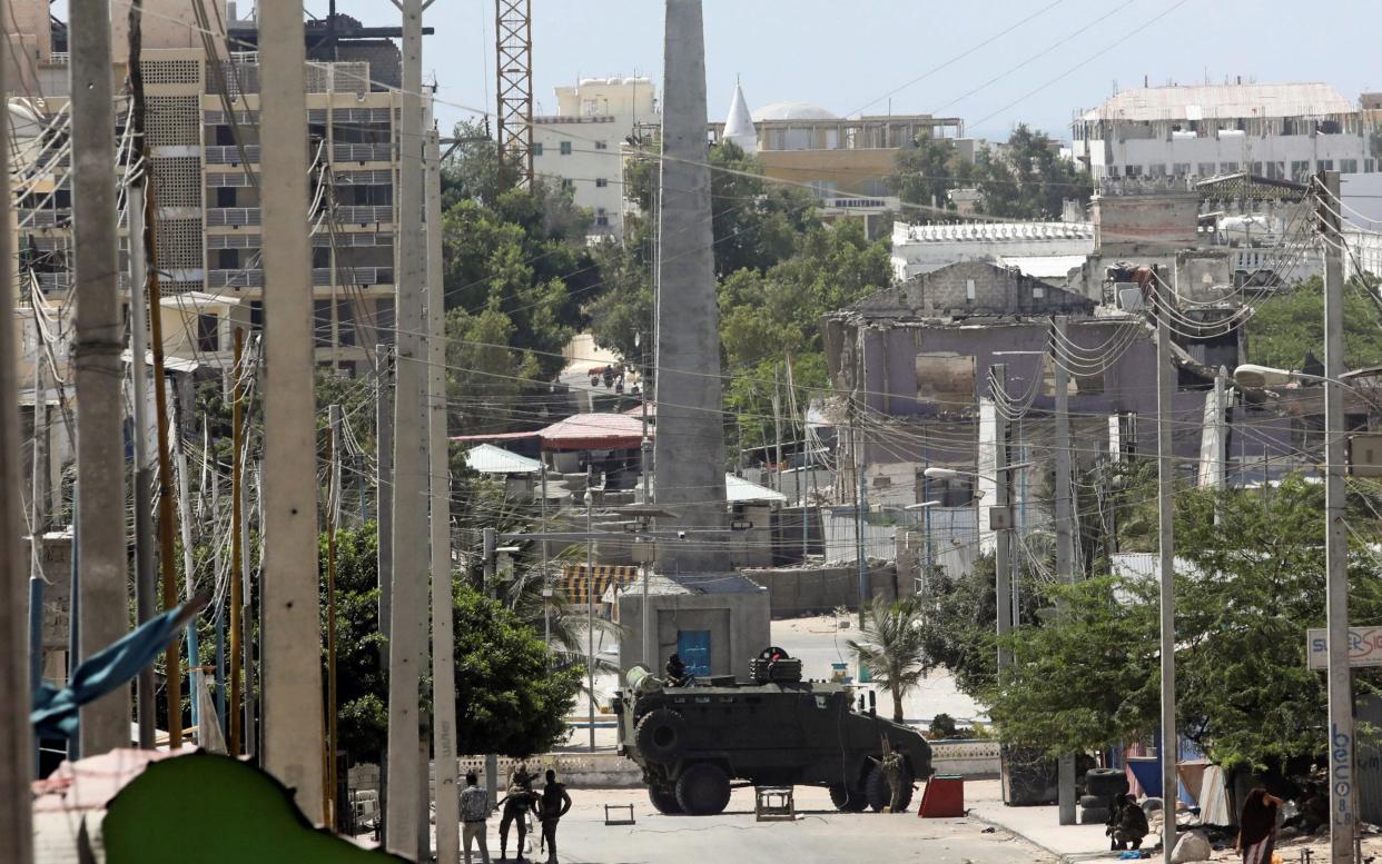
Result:
[[[724,426],[714,235],[705,137],[705,28],[701,0],[666,0],[662,84],[662,182],[658,206],[656,415],[658,504],[674,527],[703,542],[666,544],[665,573],[721,571]]]

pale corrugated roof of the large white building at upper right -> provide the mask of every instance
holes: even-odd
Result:
[[[1343,115],[1353,102],[1329,84],[1194,84],[1125,90],[1083,120],[1205,120]]]

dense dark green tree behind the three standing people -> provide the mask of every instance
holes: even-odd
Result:
[[[460,748],[529,756],[565,740],[585,669],[551,664],[532,628],[470,587],[456,589],[455,628]]]

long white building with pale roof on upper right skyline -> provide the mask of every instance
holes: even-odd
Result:
[[[1075,159],[1106,177],[1303,181],[1375,173],[1378,112],[1328,84],[1204,84],[1125,90],[1074,121]]]

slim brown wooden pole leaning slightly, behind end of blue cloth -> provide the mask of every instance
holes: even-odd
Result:
[[[153,214],[158,213],[152,185],[145,186],[145,213],[152,219]],[[149,315],[149,340],[153,342],[153,411],[158,414],[159,433],[159,570],[163,577],[163,609],[166,611],[178,605],[177,562],[173,553],[173,531],[176,530],[173,523],[173,501],[177,493],[173,489],[173,460],[170,458],[169,447],[169,396],[167,386],[164,386],[166,378],[163,370],[163,316],[159,315],[159,309],[162,309],[159,258],[158,248],[153,246],[156,235],[152,230],[152,225],[148,228],[144,246],[149,262],[153,265],[149,268],[149,309],[152,311],[152,315]],[[169,708],[169,747],[177,749],[182,747],[182,653],[178,650],[177,639],[169,643],[163,658]]]

